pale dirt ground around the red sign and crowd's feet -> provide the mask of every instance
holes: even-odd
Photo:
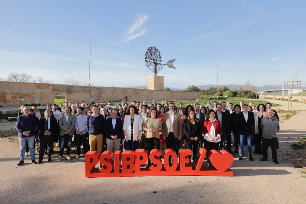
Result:
[[[303,111],[281,124],[280,157],[292,151],[290,143],[306,134],[305,118]],[[283,143],[289,137],[290,143]],[[17,167],[19,143],[14,139],[0,138],[1,203],[305,203],[306,178],[291,167],[292,161],[275,165],[270,149],[265,162],[256,154],[254,162],[239,161],[236,154],[231,167],[234,177],[85,178],[84,157],[61,162],[44,158],[36,165],[26,157],[25,165]],[[300,154],[305,155],[305,150]]]

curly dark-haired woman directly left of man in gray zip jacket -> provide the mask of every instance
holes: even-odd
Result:
[[[254,113],[254,119],[255,119],[255,134],[254,134],[254,146],[255,154],[261,154],[263,149],[262,139],[263,139],[263,131],[260,128],[261,119],[263,117],[266,117],[266,106],[262,103],[258,104],[257,106],[257,112]]]

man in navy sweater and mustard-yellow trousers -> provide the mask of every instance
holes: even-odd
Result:
[[[87,128],[89,133],[89,147],[90,151],[97,151],[102,154],[103,146],[103,131],[104,131],[104,117],[98,114],[98,106],[92,106],[92,115],[87,117]]]

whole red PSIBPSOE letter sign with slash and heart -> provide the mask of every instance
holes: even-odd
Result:
[[[234,158],[226,150],[211,150],[207,154],[213,168],[202,167],[206,155],[204,148],[200,148],[194,167],[189,164],[188,156],[192,155],[190,149],[179,149],[179,158],[173,149],[165,150],[164,166],[162,166],[161,155],[162,152],[159,149],[151,150],[150,155],[147,150],[136,150],[135,152],[127,150],[122,154],[120,150],[115,153],[104,151],[101,155],[97,151],[88,151],[85,154],[85,177],[234,176],[234,172],[230,169]],[[141,167],[147,163],[148,157],[151,160],[150,167]],[[172,158],[171,163],[169,163],[169,158],[170,161]],[[100,170],[94,169],[98,162],[102,164]]]

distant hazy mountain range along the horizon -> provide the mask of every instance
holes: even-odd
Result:
[[[226,86],[228,87],[229,89],[235,89],[235,88],[239,88],[239,87],[245,87],[245,85],[242,85],[242,84],[228,84],[228,85],[219,85],[218,87],[221,87],[221,86]],[[210,87],[217,87],[217,85],[215,84],[207,84],[207,85],[198,85],[196,86],[200,89],[209,89]],[[252,87],[256,87],[256,86],[252,86]],[[122,88],[139,88],[139,89],[146,89],[147,86],[137,86],[137,87],[122,87]],[[179,89],[179,88],[173,88],[173,87],[165,87],[165,88],[170,88],[170,90],[172,91],[177,91],[177,90],[184,90],[184,89]],[[187,87],[186,87],[187,88]],[[185,89],[186,89],[185,88]],[[257,87],[258,88],[258,91],[260,90],[270,90],[270,89],[274,89],[274,85],[271,85],[271,84],[267,84],[267,85],[264,85],[264,86],[261,86],[261,87]],[[304,88],[304,87],[300,87],[300,88]],[[275,85],[275,89],[282,89],[282,85],[280,84],[276,84]]]

